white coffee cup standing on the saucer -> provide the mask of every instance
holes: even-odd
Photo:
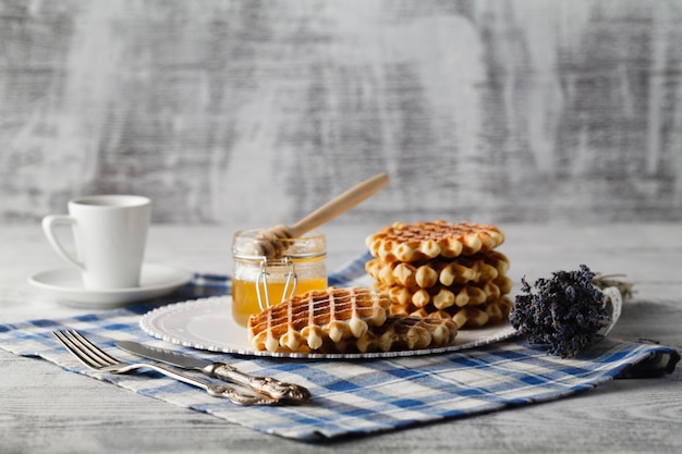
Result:
[[[151,200],[147,197],[85,196],[69,201],[69,214],[46,216],[42,231],[54,250],[81,269],[85,289],[136,287],[150,217]],[[58,241],[58,225],[72,226],[77,258]]]

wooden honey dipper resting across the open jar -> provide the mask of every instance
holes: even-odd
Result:
[[[281,258],[284,250],[289,247],[287,242],[281,240],[297,238],[304,235],[366,200],[386,186],[388,182],[388,175],[379,173],[329,200],[291,226],[280,224],[264,230],[255,238],[256,255],[268,258]]]

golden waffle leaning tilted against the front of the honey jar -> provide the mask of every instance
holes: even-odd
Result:
[[[309,291],[252,315],[248,343],[257,351],[315,351],[326,339],[364,336],[368,327],[383,324],[388,310],[388,296],[369,289]]]

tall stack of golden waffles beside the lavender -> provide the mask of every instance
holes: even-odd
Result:
[[[451,319],[480,328],[509,317],[509,259],[496,247],[495,225],[444,221],[397,222],[366,240],[374,256],[365,269],[388,294],[390,314]]]

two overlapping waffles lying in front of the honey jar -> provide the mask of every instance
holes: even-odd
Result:
[[[256,351],[367,353],[453,345],[451,320],[389,315],[387,295],[369,289],[309,291],[248,319]]]

